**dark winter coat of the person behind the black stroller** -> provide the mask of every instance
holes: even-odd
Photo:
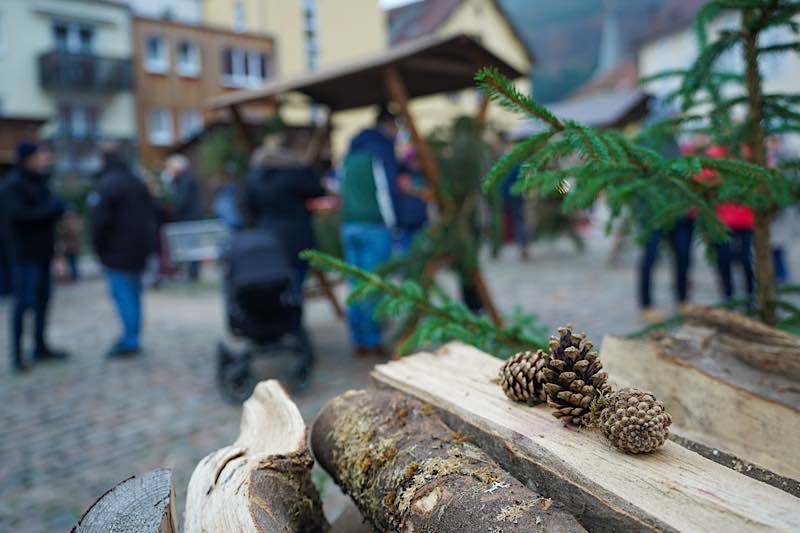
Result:
[[[266,166],[253,169],[247,177],[246,209],[258,227],[278,236],[292,263],[298,264],[297,255],[314,247],[306,201],[324,195],[320,176],[312,168]]]

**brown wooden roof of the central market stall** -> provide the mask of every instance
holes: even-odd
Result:
[[[288,92],[305,94],[332,111],[380,104],[390,100],[383,78],[383,69],[388,66],[399,70],[409,98],[474,87],[473,77],[482,67],[494,67],[512,79],[522,76],[468,35],[432,36],[352,63],[276,80],[260,89],[224,94],[208,105],[220,109],[264,102]]]

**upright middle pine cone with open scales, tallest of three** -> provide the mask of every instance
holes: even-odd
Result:
[[[547,366],[542,369],[542,387],[553,416],[564,422],[590,426],[596,417],[592,404],[611,391],[608,375],[600,370],[597,352],[586,335],[572,333],[572,326],[558,328],[559,337],[550,337]]]

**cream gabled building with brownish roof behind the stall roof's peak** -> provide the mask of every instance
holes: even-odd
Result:
[[[533,65],[532,54],[496,0],[421,0],[390,10],[387,24],[390,45],[425,35],[466,33],[476,37],[483,46],[524,73],[525,79],[516,80],[517,88],[524,94],[531,92],[527,75]],[[475,116],[480,98],[475,89],[419,98],[412,102],[411,111],[417,117],[418,127],[429,132],[459,115]],[[490,106],[487,120],[508,129],[520,117],[499,106]]]

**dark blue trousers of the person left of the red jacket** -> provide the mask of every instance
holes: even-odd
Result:
[[[644,247],[642,261],[639,264],[639,306],[650,307],[653,304],[652,285],[653,269],[658,260],[658,248],[666,239],[672,248],[675,258],[675,299],[685,302],[689,298],[689,266],[692,258],[692,235],[694,220],[685,217],[675,223],[669,230],[654,231]]]

